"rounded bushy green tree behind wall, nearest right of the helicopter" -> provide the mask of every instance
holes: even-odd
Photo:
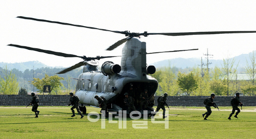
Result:
[[[182,91],[186,91],[187,95],[190,96],[192,91],[198,88],[197,77],[194,76],[193,72],[189,74],[178,73],[178,85]]]

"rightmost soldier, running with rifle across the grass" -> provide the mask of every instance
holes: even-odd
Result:
[[[238,115],[238,113],[240,112],[240,109],[238,108],[238,105],[240,105],[240,106],[242,106],[243,105],[243,103],[240,101],[240,94],[237,92],[236,93],[236,97],[234,97],[234,98],[232,98],[231,99],[231,105],[232,105],[232,112],[230,113],[230,115],[229,115],[229,117],[228,117],[228,119],[230,119],[230,120],[232,120],[231,119],[231,116],[233,115],[233,114],[235,114],[235,111],[237,110],[237,112],[236,112],[236,115],[234,116],[234,117],[236,117],[236,118],[238,118],[237,117],[237,115]]]

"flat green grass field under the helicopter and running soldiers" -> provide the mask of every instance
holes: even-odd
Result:
[[[202,118],[204,107],[170,107],[166,120],[156,116],[154,121],[99,119],[100,109],[94,107],[87,107],[90,114],[80,119],[71,117],[70,107],[39,106],[39,118],[34,118],[31,108],[0,106],[0,138],[255,138],[256,134],[256,107],[243,107],[233,120],[227,119],[231,107],[212,108],[209,120]]]

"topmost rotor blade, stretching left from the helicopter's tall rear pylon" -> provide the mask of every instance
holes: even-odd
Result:
[[[17,18],[28,19],[28,20],[34,20],[34,21],[40,21],[40,22],[56,23],[56,24],[68,25],[68,26],[75,26],[75,27],[81,27],[81,28],[89,28],[89,29],[110,31],[110,32],[115,32],[115,33],[120,33],[120,34],[127,34],[127,32],[125,32],[125,31],[112,31],[112,30],[107,30],[107,29],[99,29],[99,28],[94,28],[94,27],[87,27],[87,26],[75,25],[75,24],[69,24],[69,23],[63,23],[63,22],[58,22],[58,21],[49,21],[49,20],[36,19],[36,18],[29,18],[29,17],[22,17],[22,16],[19,16],[19,17],[17,17]]]

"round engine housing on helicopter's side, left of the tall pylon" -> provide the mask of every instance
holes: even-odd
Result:
[[[119,64],[114,64],[111,61],[106,61],[101,66],[101,72],[105,76],[110,76],[113,74],[118,74],[121,72],[121,66]]]

